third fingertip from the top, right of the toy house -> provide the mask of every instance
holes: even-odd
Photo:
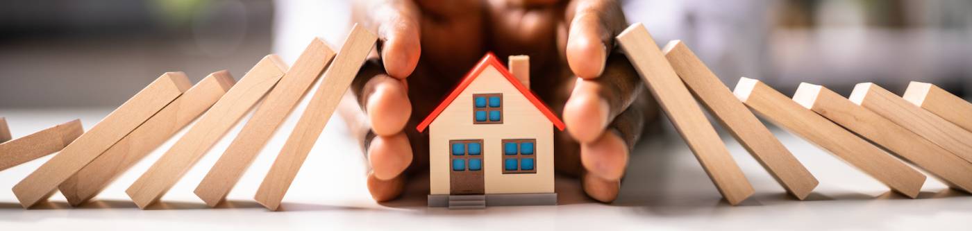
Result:
[[[588,175],[620,180],[628,166],[628,143],[620,135],[605,133],[597,141],[580,145],[580,163]]]

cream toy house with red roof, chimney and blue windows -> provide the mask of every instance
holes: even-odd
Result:
[[[517,79],[487,53],[418,125],[429,129],[430,207],[556,205],[553,128],[564,122],[528,75]]]

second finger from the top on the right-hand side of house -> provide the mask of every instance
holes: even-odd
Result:
[[[580,143],[593,142],[604,133],[608,122],[644,93],[638,73],[624,55],[614,53],[602,78],[578,79],[564,106],[568,132]]]

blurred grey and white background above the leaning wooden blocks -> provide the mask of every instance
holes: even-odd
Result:
[[[760,79],[848,95],[934,82],[972,96],[972,1],[629,0],[629,21],[681,39],[732,88]],[[293,62],[311,36],[336,48],[349,1],[34,0],[0,3],[0,112],[116,107],[166,71],[239,79],[261,56]]]

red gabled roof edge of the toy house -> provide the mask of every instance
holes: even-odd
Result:
[[[419,123],[419,126],[415,129],[418,129],[419,132],[425,131],[426,127],[429,127],[429,124],[432,124],[432,121],[435,120],[435,117],[441,114],[442,111],[445,111],[445,108],[449,107],[449,104],[452,104],[452,101],[456,100],[456,97],[459,97],[459,93],[462,93],[463,90],[469,86],[469,83],[472,83],[472,81],[475,80],[476,77],[479,77],[479,74],[481,74],[483,70],[486,70],[486,67],[489,66],[496,68],[496,70],[506,78],[507,82],[512,83],[517,90],[520,90],[520,94],[527,97],[527,100],[529,100],[530,103],[533,103],[534,107],[536,107],[540,113],[545,115],[547,119],[549,119],[550,122],[557,127],[557,129],[561,131],[564,130],[564,121],[561,121],[557,115],[554,115],[553,111],[550,111],[550,108],[543,104],[543,101],[540,101],[533,91],[530,91],[530,89],[524,86],[523,83],[516,80],[516,78],[513,77],[513,74],[510,74],[509,70],[506,69],[506,66],[503,66],[503,63],[500,63],[500,60],[496,58],[496,55],[494,55],[493,52],[486,52],[486,56],[483,56],[483,59],[479,60],[479,64],[476,64],[476,67],[466,74],[466,77],[463,78],[463,82],[459,82],[456,89],[452,90],[452,93],[449,93],[449,96],[445,97],[445,100],[442,100],[442,102],[435,107],[432,114],[426,116],[426,118],[422,120],[422,123]]]

